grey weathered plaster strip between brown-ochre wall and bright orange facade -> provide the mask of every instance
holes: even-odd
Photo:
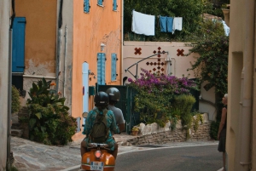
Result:
[[[56,40],[60,37],[60,59],[59,68],[59,83],[58,91],[66,98],[65,105],[72,108],[72,71],[73,71],[73,2],[63,1],[62,3],[62,26],[58,28],[58,20],[56,20]],[[58,0],[56,16],[59,18],[61,0]]]

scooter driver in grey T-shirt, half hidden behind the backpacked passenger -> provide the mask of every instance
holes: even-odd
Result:
[[[125,130],[125,119],[123,112],[114,105],[120,100],[120,93],[118,88],[108,88],[106,93],[109,97],[108,109],[113,111],[113,115],[115,117],[116,124],[119,127],[120,133]]]

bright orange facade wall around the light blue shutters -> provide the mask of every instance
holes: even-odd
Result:
[[[100,7],[96,1],[90,1],[90,13],[84,13],[84,0],[76,0],[73,4],[73,98],[72,115],[82,114],[82,64],[86,61],[89,69],[97,77],[97,53],[106,53],[106,83],[121,83],[121,1],[118,9],[113,11],[113,1],[104,1]],[[100,44],[106,47],[101,52]],[[111,54],[116,53],[118,77],[111,82]],[[90,86],[96,85],[96,78],[90,77]],[[89,110],[93,107],[93,98],[89,100]]]

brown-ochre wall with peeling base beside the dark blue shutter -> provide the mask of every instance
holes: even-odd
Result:
[[[15,0],[16,17],[26,17],[25,72],[47,75],[36,68],[44,65],[44,71],[55,73],[56,10],[53,0]]]

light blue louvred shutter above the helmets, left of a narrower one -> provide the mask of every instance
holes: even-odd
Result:
[[[98,83],[98,85],[106,85],[105,63],[106,63],[106,54],[98,53],[97,54],[97,83]]]

